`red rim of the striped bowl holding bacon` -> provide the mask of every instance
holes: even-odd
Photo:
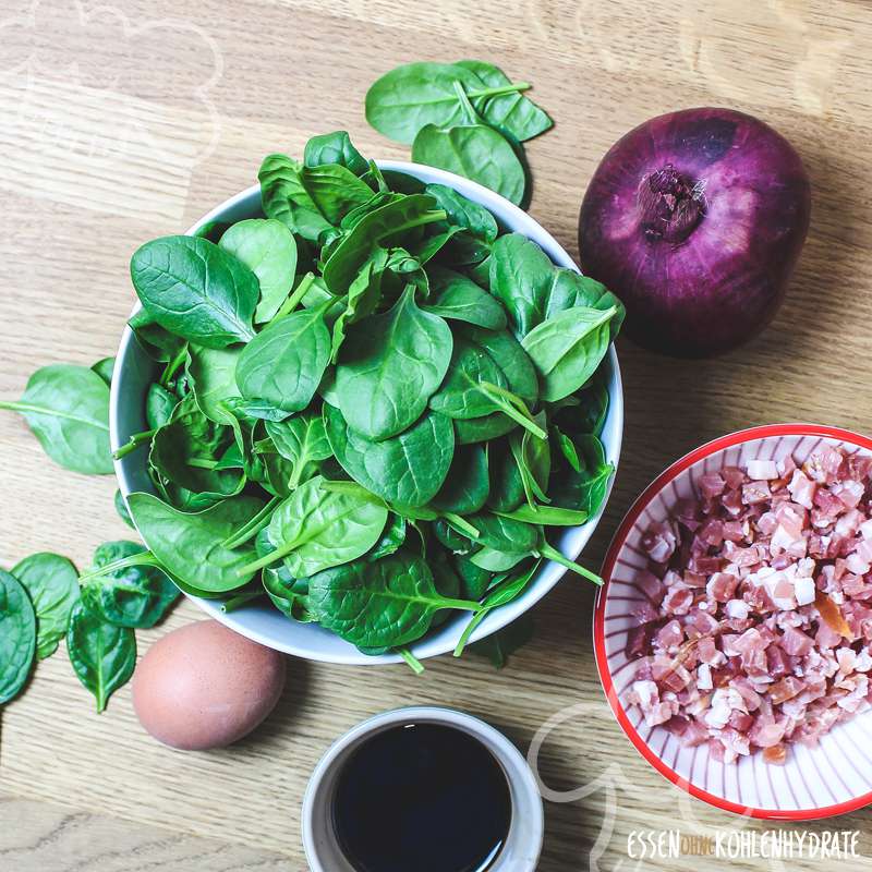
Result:
[[[865,808],[872,803],[872,791],[861,794],[852,799],[839,802],[834,806],[821,806],[813,809],[762,809],[749,806],[741,806],[737,802],[730,802],[724,797],[703,790],[694,784],[691,784],[686,778],[680,776],[671,766],[667,766],[663,759],[654,753],[649,743],[642,739],[639,731],[630,723],[627,712],[618,699],[615,687],[611,681],[611,674],[608,668],[608,656],[606,653],[605,640],[605,613],[606,600],[608,598],[608,589],[611,573],[615,569],[615,564],[620,555],[627,536],[633,529],[637,519],[644,511],[645,507],[659,494],[663,488],[669,484],[677,475],[688,470],[694,463],[706,457],[724,451],[727,448],[732,448],[744,443],[753,441],[755,439],[763,439],[777,436],[823,436],[831,439],[838,439],[850,445],[856,445],[860,448],[872,451],[872,438],[863,436],[860,433],[846,429],[844,427],[834,427],[826,424],[809,424],[809,423],[788,423],[788,424],[762,424],[755,427],[748,427],[747,429],[735,431],[726,436],[719,436],[716,439],[704,443],[699,448],[694,448],[683,457],[680,457],[674,463],[670,463],[633,501],[627,514],[618,525],[615,535],[609,543],[606,558],[603,562],[603,586],[597,592],[596,604],[594,606],[593,618],[593,650],[594,659],[596,662],[596,671],[600,676],[600,681],[603,685],[603,691],[608,700],[609,708],[615,719],[620,725],[627,738],[633,744],[637,751],[668,782],[671,782],[676,787],[686,790],[697,799],[707,802],[717,809],[732,812],[747,818],[759,818],[764,820],[775,821],[816,821],[824,818],[835,818],[839,814],[847,814],[851,811]]]

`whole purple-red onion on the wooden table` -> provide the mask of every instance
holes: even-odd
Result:
[[[620,296],[640,346],[705,358],[772,320],[810,214],[802,160],[767,124],[731,109],[671,112],[597,167],[579,215],[581,268]]]

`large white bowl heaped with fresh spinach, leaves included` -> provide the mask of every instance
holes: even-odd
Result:
[[[483,640],[572,569],[622,432],[623,307],[526,213],[338,132],[133,255],[110,399],[147,550],[205,611],[346,664]]]

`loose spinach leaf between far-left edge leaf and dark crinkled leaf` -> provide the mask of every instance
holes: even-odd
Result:
[[[12,568],[36,613],[36,656],[45,659],[66,635],[70,613],[78,601],[78,572],[65,557],[49,552],[32,554]],[[2,609],[0,609],[2,610]]]

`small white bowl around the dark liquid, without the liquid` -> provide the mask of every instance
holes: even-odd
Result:
[[[337,739],[322,758],[303,797],[303,847],[312,872],[354,872],[334,832],[330,810],[337,778],[349,754],[377,732],[400,724],[444,724],[476,738],[506,775],[511,796],[511,823],[488,872],[534,872],[542,851],[544,812],[536,779],[521,752],[497,729],[477,717],[440,706],[396,708],[358,724]],[[374,798],[377,801],[377,798]],[[450,838],[450,833],[443,833]],[[410,870],[411,872],[411,870]]]

